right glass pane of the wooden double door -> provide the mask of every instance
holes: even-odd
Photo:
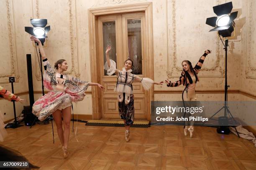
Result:
[[[133,74],[142,74],[141,19],[127,20],[128,59],[133,60]]]

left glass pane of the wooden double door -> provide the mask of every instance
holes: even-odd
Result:
[[[116,63],[116,44],[115,44],[115,21],[108,21],[102,23],[103,28],[103,54],[104,54],[104,64],[106,63],[106,48],[108,45],[111,46],[109,52],[109,57]],[[107,65],[104,65],[106,67]],[[104,75],[107,75],[107,70],[104,69]]]

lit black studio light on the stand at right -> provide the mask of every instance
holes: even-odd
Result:
[[[212,8],[217,17],[206,19],[207,25],[215,27],[210,31],[218,31],[218,34],[222,37],[230,37],[231,33],[234,31],[234,20],[237,17],[238,11],[230,13],[233,8],[232,2],[217,5]]]

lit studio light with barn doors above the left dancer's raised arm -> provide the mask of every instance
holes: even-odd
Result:
[[[50,31],[50,25],[47,25],[46,19],[30,19],[31,25],[33,27],[25,27],[25,31],[30,35],[37,37],[44,45],[45,38],[47,38],[47,33]]]

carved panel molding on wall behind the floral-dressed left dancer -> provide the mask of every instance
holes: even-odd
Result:
[[[74,74],[75,77],[77,78],[80,78],[80,73],[79,73],[79,62],[77,62],[77,71],[75,69],[75,52],[74,52],[74,25],[73,25],[73,21],[75,18],[75,26],[76,26],[76,33],[77,33],[77,15],[73,15],[72,13],[72,2],[74,2],[74,10],[75,10],[75,13],[77,13],[77,8],[76,8],[76,0],[73,1],[73,0],[68,0],[68,6],[69,6],[69,10],[68,10],[68,13],[69,13],[69,36],[70,36],[70,51],[71,51],[71,69],[69,71],[66,71],[65,74]],[[39,2],[38,0],[36,0],[36,16],[37,18],[39,18],[40,16],[40,11],[39,11]],[[46,40],[47,41],[47,40]],[[77,42],[77,45],[78,45],[78,42]],[[36,55],[36,50],[35,50],[35,55]],[[77,47],[77,61],[79,61],[79,57],[78,57],[78,47]],[[35,61],[36,62],[36,61]],[[36,64],[37,66],[37,64]],[[40,69],[38,68],[37,66],[37,72],[36,72],[36,79],[38,81],[41,81],[41,72],[40,72]]]

